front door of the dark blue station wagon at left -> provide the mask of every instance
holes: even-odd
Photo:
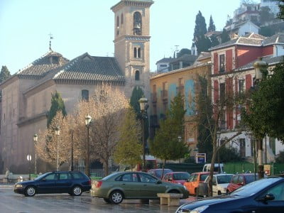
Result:
[[[50,173],[38,181],[38,193],[54,193],[58,192],[56,189],[56,180],[58,180],[57,173]]]

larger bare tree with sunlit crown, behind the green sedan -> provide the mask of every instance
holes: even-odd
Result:
[[[84,118],[89,114],[92,116],[92,125],[89,127],[90,154],[92,159],[103,163],[104,175],[109,173],[109,160],[119,141],[119,126],[128,107],[129,102],[124,93],[107,84],[97,87],[88,101],[83,100],[78,105],[77,128],[81,129],[82,151],[86,151],[87,141]]]

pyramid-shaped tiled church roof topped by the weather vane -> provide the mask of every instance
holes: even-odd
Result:
[[[50,57],[57,56],[59,58],[58,64],[50,63]],[[27,67],[16,72],[16,75],[20,78],[30,78],[38,79],[46,75],[50,70],[54,70],[61,67],[69,60],[63,58],[60,53],[53,52],[53,50],[48,51],[45,55],[41,56],[34,62],[32,62]]]

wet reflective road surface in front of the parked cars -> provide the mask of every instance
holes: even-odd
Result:
[[[189,200],[181,200],[181,204]],[[25,197],[13,192],[13,186],[0,185],[0,212],[35,213],[35,212],[175,212],[178,207],[161,206],[158,200],[143,204],[140,200],[124,200],[121,204],[106,204],[104,200],[83,193],[79,197],[68,194],[35,195]]]

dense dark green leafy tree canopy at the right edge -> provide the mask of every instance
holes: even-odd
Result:
[[[243,109],[242,116],[257,138],[268,134],[284,141],[284,62],[276,65],[272,73],[264,75],[251,92],[249,109]]]

